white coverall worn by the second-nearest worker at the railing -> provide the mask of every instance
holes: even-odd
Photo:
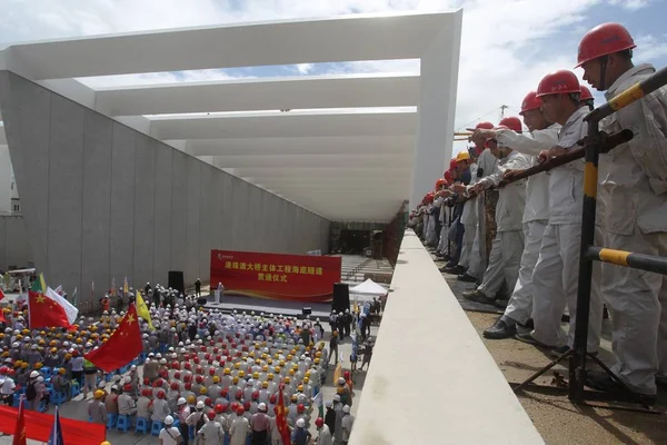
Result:
[[[577,148],[588,126],[586,108],[575,111],[558,134],[558,146]],[[570,322],[567,345],[573,346],[577,317],[577,288],[581,244],[584,201],[584,160],[575,160],[548,172],[549,224],[545,228],[539,257],[532,273],[532,337],[549,346],[563,345],[560,318],[567,306]],[[590,293],[587,349],[596,353],[600,345],[603,301],[599,291]]]

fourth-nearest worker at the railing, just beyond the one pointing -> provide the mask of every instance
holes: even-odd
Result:
[[[514,125],[515,131],[521,131],[521,122],[507,122]],[[502,122],[502,121],[501,121]],[[475,192],[498,186],[506,170],[524,170],[530,167],[530,160],[525,155],[514,151],[510,147],[498,145],[492,149],[494,156],[500,159],[496,171],[481,178],[475,185]],[[521,263],[524,251],[524,230],[521,218],[526,206],[526,180],[521,179],[500,188],[498,204],[496,206],[496,225],[498,227],[494,245],[489,255],[489,266],[484,274],[484,280],[477,289],[465,291],[467,299],[492,304],[498,290],[507,283],[508,288],[514,289]]]

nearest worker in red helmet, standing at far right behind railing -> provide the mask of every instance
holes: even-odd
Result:
[[[607,100],[655,72],[633,65],[635,42],[618,23],[590,30],[579,43],[584,79]],[[605,247],[667,256],[667,88],[663,87],[603,122],[606,131],[629,128],[635,137],[610,151],[601,178],[606,192]],[[644,402],[655,402],[656,383],[667,380],[667,277],[605,265],[603,290],[609,308],[617,364],[611,370]],[[617,389],[606,374],[588,384]]]

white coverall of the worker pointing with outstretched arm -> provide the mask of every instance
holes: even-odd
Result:
[[[558,145],[560,126],[554,123],[544,130],[535,130],[530,135],[518,134],[509,129],[500,129],[496,134],[499,144],[511,147],[515,151],[530,156],[530,165],[537,164],[537,155]],[[526,187],[526,208],[524,210],[524,253],[519,276],[514,287],[505,316],[526,324],[532,312],[532,270],[537,263],[541,239],[549,220],[549,177],[547,174],[528,178]]]

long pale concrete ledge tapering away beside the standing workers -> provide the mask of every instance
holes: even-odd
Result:
[[[544,444],[411,230],[391,288],[349,444]]]

